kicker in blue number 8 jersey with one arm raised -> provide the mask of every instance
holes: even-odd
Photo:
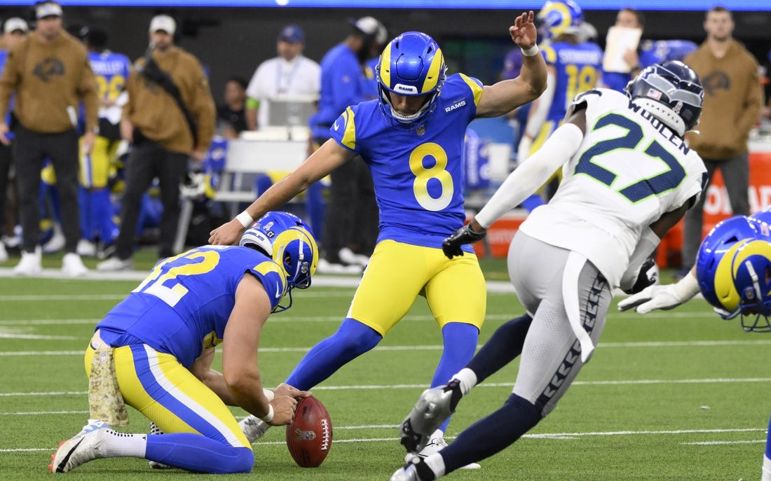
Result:
[[[406,32],[393,39],[377,67],[380,98],[345,109],[329,131],[332,139],[236,219],[211,232],[212,244],[236,242],[251,219],[283,205],[356,154],[369,166],[380,209],[375,252],[342,325],[300,361],[287,380],[291,386],[310,389],[377,346],[418,296],[426,298],[442,329],[444,349],[431,386],[447,382],[473,356],[487,303],[484,277],[470,246],[463,248],[466,256],[447,259],[442,241],[466,219],[461,159],[466,126],[478,117],[510,112],[546,87],[533,16],[523,13],[509,27],[524,52],[520,76],[494,85],[460,73],[446,76],[442,50],[429,35]],[[255,418],[244,423],[258,424]],[[446,445],[445,427],[436,426],[423,455]]]

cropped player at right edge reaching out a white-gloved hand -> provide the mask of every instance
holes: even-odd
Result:
[[[673,309],[699,292],[723,319],[739,316],[747,332],[771,332],[771,208],[715,225],[699,247],[696,264],[675,284],[650,286],[618,302],[640,314]],[[763,478],[771,481],[771,420]]]

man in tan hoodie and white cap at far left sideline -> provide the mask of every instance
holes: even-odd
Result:
[[[62,272],[86,273],[76,248],[80,239],[78,207],[79,105],[86,110],[83,150],[96,138],[99,98],[86,47],[62,29],[62,7],[56,2],[35,5],[35,32],[14,45],[0,77],[0,119],[5,119],[11,95],[19,120],[13,134],[13,156],[22,216],[22,260],[14,272],[34,276],[42,272],[38,192],[43,160],[51,159],[62,209],[66,254]],[[0,142],[8,145],[9,126],[0,122]]]

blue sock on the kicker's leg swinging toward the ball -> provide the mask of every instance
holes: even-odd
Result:
[[[346,317],[335,334],[308,351],[289,375],[287,384],[303,391],[311,389],[348,361],[377,346],[381,339],[375,329]]]

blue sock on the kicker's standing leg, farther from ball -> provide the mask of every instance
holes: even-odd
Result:
[[[439,366],[436,366],[431,387],[442,386],[449,382],[453,374],[463,369],[466,362],[469,362],[476,351],[476,341],[479,339],[480,331],[471,324],[465,322],[448,322],[442,328],[442,338],[444,340],[444,349],[442,358],[439,359]],[[449,424],[449,418],[439,426],[439,429],[445,431]]]

